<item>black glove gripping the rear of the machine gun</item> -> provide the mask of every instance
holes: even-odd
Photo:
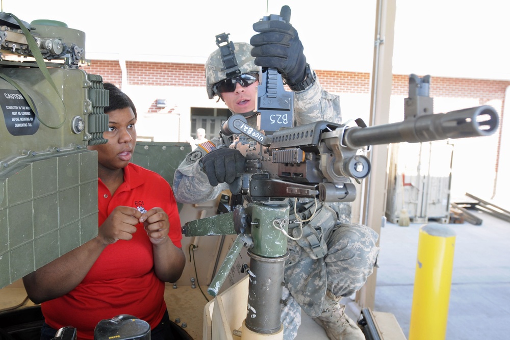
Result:
[[[202,171],[207,174],[209,184],[213,187],[223,182],[231,184],[246,170],[246,160],[241,152],[225,147],[203,156],[201,164]]]

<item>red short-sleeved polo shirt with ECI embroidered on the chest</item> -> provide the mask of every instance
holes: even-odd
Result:
[[[124,168],[124,182],[115,194],[99,179],[99,226],[119,205],[138,210],[161,207],[168,214],[168,236],[181,247],[179,211],[168,182],[155,172],[135,164]],[[103,319],[120,314],[158,325],[166,310],[165,284],[154,273],[152,244],[143,224],[130,241],[119,240],[103,250],[83,281],[70,293],[41,304],[46,323],[55,329],[73,326],[78,338],[93,339],[94,328]]]

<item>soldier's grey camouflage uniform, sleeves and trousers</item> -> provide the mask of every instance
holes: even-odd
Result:
[[[304,91],[295,92],[294,118],[297,125],[319,120],[341,122],[340,98],[322,90],[318,80]],[[248,124],[256,122],[248,118]],[[211,140],[215,145],[220,138]],[[217,187],[209,185],[207,175],[197,162],[207,151],[197,147],[189,153],[175,172],[174,195],[182,203],[199,203],[215,199],[226,183]],[[290,199],[290,220],[295,220],[294,199]],[[315,200],[299,199],[298,214],[301,220],[308,219],[315,211]],[[301,322],[299,306],[312,318],[324,309],[326,291],[337,297],[350,296],[365,284],[373,272],[379,248],[378,235],[369,227],[350,224],[350,203],[320,203],[311,221],[302,228],[298,241],[289,239],[290,256],[285,263],[283,298],[287,306],[282,311],[285,325],[284,338],[293,339]],[[289,225],[289,233],[299,237],[298,223]],[[290,292],[290,295],[289,295]]]

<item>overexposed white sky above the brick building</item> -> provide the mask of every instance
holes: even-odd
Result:
[[[85,32],[87,59],[188,63],[204,63],[219,33],[249,42],[252,23],[278,14],[282,5],[292,9],[312,67],[371,71],[376,0],[145,0],[131,6],[2,0],[2,10],[21,20],[58,20]],[[397,0],[393,73],[510,80],[508,22],[510,2],[501,0]]]

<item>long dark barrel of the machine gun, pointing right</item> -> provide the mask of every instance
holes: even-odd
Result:
[[[496,132],[499,117],[488,105],[407,118],[402,122],[346,129],[343,143],[352,149],[366,145],[418,143],[447,138],[489,136]]]

